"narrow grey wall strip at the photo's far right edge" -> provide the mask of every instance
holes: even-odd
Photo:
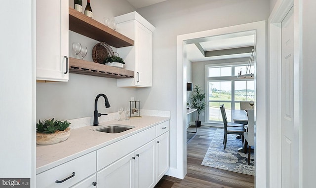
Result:
[[[302,152],[303,152],[303,188],[315,187],[315,80],[316,80],[316,1],[300,0],[302,2]]]

